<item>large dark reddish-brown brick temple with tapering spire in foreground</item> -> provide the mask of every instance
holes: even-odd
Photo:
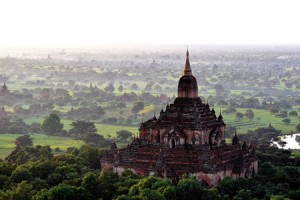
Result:
[[[221,113],[217,117],[198,96],[187,51],[174,103],[162,109],[158,118],[143,122],[139,137],[127,147],[113,143],[101,165],[117,173],[129,169],[173,182],[188,174],[208,186],[217,186],[226,176],[253,177],[257,173],[254,148],[245,142],[241,145],[236,134],[232,144],[226,144],[225,126]]]

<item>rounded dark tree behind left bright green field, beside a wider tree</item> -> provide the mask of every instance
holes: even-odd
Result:
[[[57,114],[50,114],[44,120],[41,129],[48,135],[56,135],[61,132],[64,125],[60,123],[60,118]]]

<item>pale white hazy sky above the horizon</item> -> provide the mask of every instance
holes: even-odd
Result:
[[[0,46],[300,44],[299,0],[1,0]]]

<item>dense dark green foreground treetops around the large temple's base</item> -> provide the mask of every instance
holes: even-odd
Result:
[[[0,199],[299,199],[300,160],[273,147],[259,147],[257,152],[254,178],[225,177],[217,188],[206,188],[188,176],[174,184],[129,170],[121,175],[99,171],[103,151],[87,145],[55,157],[48,155],[49,147],[24,147],[14,154],[26,153],[23,163],[0,163]]]

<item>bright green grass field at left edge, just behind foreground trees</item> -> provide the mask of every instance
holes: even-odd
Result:
[[[4,159],[15,148],[15,139],[19,134],[0,134],[0,158]],[[45,134],[31,134],[34,145],[49,145],[52,149],[59,147],[65,151],[68,147],[80,147],[84,144],[81,140],[67,137],[48,136]]]

